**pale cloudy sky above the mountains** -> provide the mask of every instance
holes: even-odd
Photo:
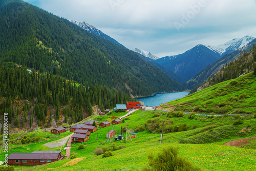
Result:
[[[158,57],[256,37],[255,0],[24,0]]]

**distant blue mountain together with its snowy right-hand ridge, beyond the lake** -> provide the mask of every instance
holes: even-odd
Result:
[[[232,53],[251,42],[254,37],[245,36],[234,38],[218,46],[197,45],[183,54],[165,56],[156,62],[168,70],[183,76],[186,79],[194,77],[202,69],[220,59],[227,53]]]

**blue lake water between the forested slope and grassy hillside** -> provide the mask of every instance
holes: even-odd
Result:
[[[162,103],[173,101],[188,95],[189,92],[175,92],[175,93],[159,93],[153,94],[151,97],[137,98],[137,101],[143,101],[144,105],[159,106]]]

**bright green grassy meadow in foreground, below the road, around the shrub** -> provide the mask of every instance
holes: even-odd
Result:
[[[193,165],[201,167],[203,170],[255,170],[256,150],[252,146],[232,147],[221,145],[227,141],[256,136],[256,120],[253,117],[241,117],[244,123],[233,125],[238,118],[234,116],[199,116],[189,119],[188,115],[183,117],[173,117],[166,112],[136,111],[125,119],[125,123],[114,125],[113,130],[120,135],[122,127],[127,126],[133,129],[138,135],[130,139],[116,141],[106,144],[106,133],[112,127],[100,128],[97,132],[90,135],[90,139],[84,142],[84,149],[78,149],[80,143],[71,144],[71,154],[74,159],[66,159],[47,165],[35,167],[23,167],[26,170],[140,170],[148,166],[147,156],[153,152],[156,155],[164,147],[174,146],[179,148],[179,154],[185,157]],[[170,117],[170,118],[169,118]],[[99,116],[95,120],[104,121],[110,116]],[[160,144],[161,121],[165,118],[163,143]],[[153,120],[149,122],[148,120]],[[159,120],[159,122],[157,121]],[[159,125],[155,125],[155,123]],[[168,124],[167,124],[168,123]],[[145,125],[146,124],[146,125]],[[175,127],[186,124],[187,131],[176,130]],[[152,127],[155,125],[155,130]],[[251,129],[247,128],[251,126]],[[144,127],[144,131],[141,127]],[[142,129],[142,130],[140,130]],[[240,132],[241,130],[245,132]],[[221,131],[221,130],[225,130]],[[178,132],[177,132],[178,131]],[[152,133],[151,133],[152,132]],[[206,136],[207,135],[207,136]],[[98,140],[97,140],[98,137]],[[200,141],[196,141],[200,140]],[[188,144],[190,142],[190,144]],[[191,144],[194,143],[194,144]],[[41,144],[41,143],[40,143]],[[32,146],[33,144],[31,144]],[[24,151],[19,147],[18,151]],[[113,151],[114,155],[102,158],[96,155],[97,148]],[[13,149],[14,151],[14,149]],[[20,166],[15,166],[20,170]]]

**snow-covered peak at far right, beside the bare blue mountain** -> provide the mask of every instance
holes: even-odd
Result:
[[[255,39],[255,38],[251,37],[251,36],[244,36],[243,38],[234,38],[234,39],[227,41],[221,45],[206,46],[206,47],[212,51],[219,53],[220,55],[224,55],[224,54],[236,51],[240,48],[243,48],[249,42],[251,42],[253,39]]]

